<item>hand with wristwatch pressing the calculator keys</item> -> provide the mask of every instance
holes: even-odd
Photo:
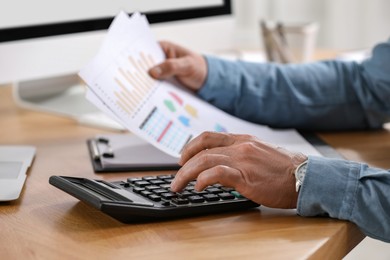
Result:
[[[296,208],[294,170],[307,157],[249,135],[205,132],[186,145],[171,189],[195,189],[220,183],[246,198],[274,208]]]

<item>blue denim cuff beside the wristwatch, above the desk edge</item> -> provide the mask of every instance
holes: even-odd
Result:
[[[359,184],[359,169],[354,162],[309,156],[297,213],[350,219]]]

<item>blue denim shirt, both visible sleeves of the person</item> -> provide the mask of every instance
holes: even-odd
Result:
[[[390,121],[390,41],[362,63],[206,60],[208,75],[198,95],[251,122],[348,130],[378,129]],[[390,242],[390,171],[310,156],[297,212],[349,220],[366,235]]]

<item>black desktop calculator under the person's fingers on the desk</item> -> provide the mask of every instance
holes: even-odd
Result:
[[[171,192],[175,175],[153,175],[107,182],[51,176],[49,183],[96,209],[124,222],[190,217],[258,207],[232,188],[215,184],[204,191],[192,181],[181,192]]]

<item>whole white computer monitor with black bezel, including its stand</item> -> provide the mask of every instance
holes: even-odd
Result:
[[[110,120],[100,117],[96,108],[85,100],[85,88],[80,87],[77,72],[97,53],[106,29],[121,10],[129,14],[145,13],[157,36],[165,38],[163,34],[167,33],[168,40],[180,42],[183,34],[176,34],[169,27],[181,26],[188,19],[193,21],[192,18],[226,17],[231,14],[231,3],[230,0],[9,1],[0,8],[0,84],[14,84],[14,97],[21,106],[116,128],[115,123],[110,125]],[[191,30],[187,30],[187,38]]]

